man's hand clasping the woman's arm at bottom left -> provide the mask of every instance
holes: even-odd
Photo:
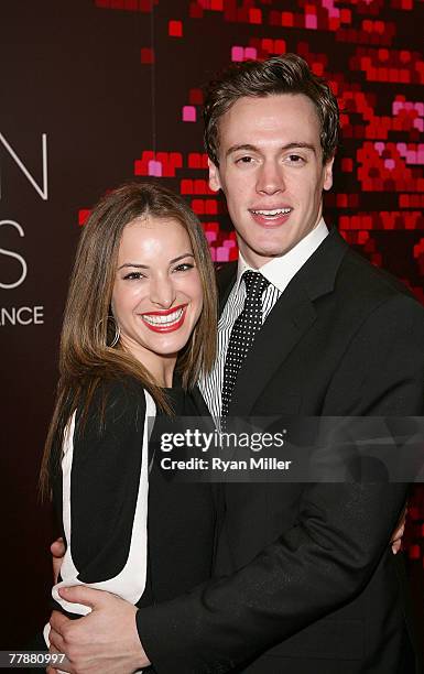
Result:
[[[130,674],[150,665],[135,626],[137,608],[116,595],[90,587],[59,589],[67,601],[85,604],[93,611],[69,620],[53,611],[51,652],[65,653],[68,663],[59,665],[73,674]]]

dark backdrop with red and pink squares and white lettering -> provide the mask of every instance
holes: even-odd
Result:
[[[331,83],[343,142],[326,219],[424,303],[422,0],[3,0],[0,8],[1,648],[47,617],[55,529],[37,472],[75,247],[90,207],[131,178],[198,215],[214,260],[237,257],[207,185],[203,85],[284,52]],[[405,536],[422,587],[424,498]]]

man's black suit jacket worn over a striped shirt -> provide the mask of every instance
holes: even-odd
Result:
[[[224,302],[235,278],[228,265]],[[423,405],[423,307],[333,230],[267,318],[229,414],[422,415]],[[389,541],[406,486],[222,490],[218,578],[138,613],[156,671],[401,671],[405,609]]]

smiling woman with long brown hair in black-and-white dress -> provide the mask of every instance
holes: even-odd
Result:
[[[170,480],[148,441],[156,413],[205,411],[194,387],[215,344],[214,269],[189,207],[152,184],[107,194],[78,246],[42,466],[66,541],[52,591],[62,610],[89,611],[66,602],[63,585],[144,606],[210,575],[210,486]]]

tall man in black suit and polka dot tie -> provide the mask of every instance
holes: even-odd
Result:
[[[240,249],[219,279],[219,357],[203,384],[213,414],[423,414],[423,308],[322,217],[338,133],[327,85],[295,55],[246,63],[211,84],[205,121],[210,186],[227,198]],[[414,671],[389,550],[405,486],[222,491],[216,579],[139,611],[89,588],[63,591],[94,607],[74,623],[52,619],[72,671]]]

